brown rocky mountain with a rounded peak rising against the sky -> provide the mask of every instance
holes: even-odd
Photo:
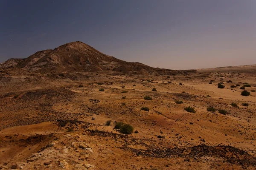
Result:
[[[9,59],[0,68],[16,66],[28,71],[143,71],[152,70],[139,62],[126,62],[97,51],[83,42],[70,42],[54,50],[38,51],[26,59]]]

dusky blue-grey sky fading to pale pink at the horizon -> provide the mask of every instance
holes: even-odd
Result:
[[[0,62],[77,40],[158,68],[256,64],[256,0],[0,0]]]

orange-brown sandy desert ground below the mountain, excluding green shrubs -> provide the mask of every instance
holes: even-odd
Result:
[[[255,170],[256,70],[167,76],[2,77],[0,169]],[[245,82],[250,96],[241,96]],[[114,129],[120,121],[138,133]]]

